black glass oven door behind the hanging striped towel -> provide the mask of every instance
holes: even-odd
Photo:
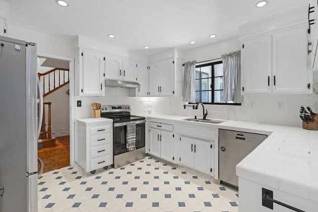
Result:
[[[136,123],[136,149],[145,147],[145,123],[146,120]],[[127,150],[127,122],[114,123],[113,128],[114,155],[128,152]]]

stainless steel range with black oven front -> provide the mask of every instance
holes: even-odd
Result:
[[[130,115],[130,105],[103,105],[101,106],[101,117],[112,119],[113,122],[113,168],[143,159],[145,153],[145,117]],[[129,151],[127,148],[127,124],[136,124],[135,149]]]

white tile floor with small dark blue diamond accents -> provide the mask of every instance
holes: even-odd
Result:
[[[39,212],[238,212],[237,191],[151,157],[81,175],[76,167],[38,180]]]

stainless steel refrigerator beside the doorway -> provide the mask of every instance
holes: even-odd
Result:
[[[36,57],[34,43],[0,36],[0,212],[37,211]]]

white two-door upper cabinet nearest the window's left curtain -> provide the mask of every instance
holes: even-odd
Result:
[[[150,64],[150,95],[173,96],[175,89],[175,59]]]

